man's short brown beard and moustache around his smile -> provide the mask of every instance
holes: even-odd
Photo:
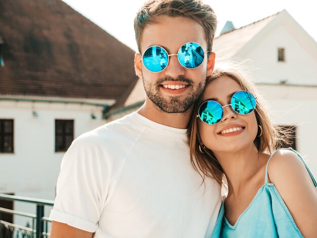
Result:
[[[186,112],[194,102],[199,99],[203,94],[206,80],[201,81],[198,84],[194,84],[189,78],[180,76],[178,78],[164,77],[160,78],[159,81],[155,83],[150,83],[149,81],[142,78],[144,90],[148,98],[162,111],[167,113],[183,113]],[[189,84],[187,89],[189,91],[188,95],[184,96],[166,96],[160,92],[160,85],[167,81],[177,81]]]

